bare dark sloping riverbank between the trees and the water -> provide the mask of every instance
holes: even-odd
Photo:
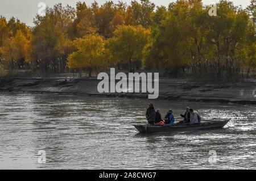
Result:
[[[97,91],[98,82],[100,81],[97,79],[85,78],[0,78],[0,91],[148,98],[144,93],[100,94]],[[220,83],[160,79],[158,99],[256,104],[255,91],[256,82]]]

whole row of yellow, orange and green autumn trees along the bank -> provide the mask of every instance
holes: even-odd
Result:
[[[232,77],[256,68],[255,2],[242,9],[220,1],[217,16],[201,0],[57,4],[37,15],[34,27],[1,16],[0,64],[48,73],[114,66]]]

